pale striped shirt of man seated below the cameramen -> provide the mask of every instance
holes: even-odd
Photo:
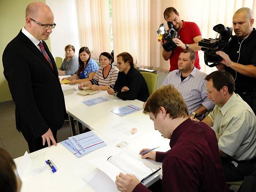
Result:
[[[206,76],[206,73],[200,72],[194,67],[188,77],[181,82],[181,71],[177,69],[169,72],[162,85],[172,84],[181,92],[188,106],[189,115],[201,105],[211,111],[214,108],[214,103],[207,99]]]

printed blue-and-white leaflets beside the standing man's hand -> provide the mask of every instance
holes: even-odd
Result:
[[[67,140],[60,143],[75,154],[76,157],[82,157],[85,154],[107,145],[92,131],[68,137]]]

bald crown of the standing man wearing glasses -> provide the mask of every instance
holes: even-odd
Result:
[[[49,6],[42,2],[34,2],[26,7],[26,18],[37,19],[38,15],[40,15],[41,13],[53,14]]]

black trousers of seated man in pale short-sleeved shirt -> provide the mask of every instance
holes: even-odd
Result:
[[[256,158],[245,161],[237,161],[232,158],[221,158],[222,168],[226,181],[241,181],[249,175],[252,167],[256,163]]]

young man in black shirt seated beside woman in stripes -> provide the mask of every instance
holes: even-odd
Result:
[[[117,55],[117,68],[119,69],[114,88],[108,87],[108,94],[123,100],[138,99],[147,101],[149,92],[147,83],[139,71],[134,68],[133,58],[123,52]]]

